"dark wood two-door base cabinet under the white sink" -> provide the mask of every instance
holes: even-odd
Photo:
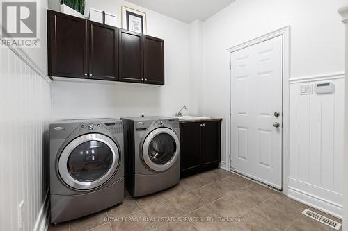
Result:
[[[180,123],[180,178],[214,169],[221,161],[221,121]]]

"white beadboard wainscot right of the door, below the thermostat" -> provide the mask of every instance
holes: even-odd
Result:
[[[333,78],[333,76],[335,76]],[[344,75],[290,80],[289,196],[342,216]],[[316,83],[331,82],[333,94],[316,94]],[[300,94],[313,85],[313,94]]]

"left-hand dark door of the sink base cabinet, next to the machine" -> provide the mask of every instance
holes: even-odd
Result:
[[[200,171],[201,123],[180,123],[180,178]]]

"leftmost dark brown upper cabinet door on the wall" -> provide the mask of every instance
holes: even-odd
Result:
[[[88,78],[87,20],[48,10],[49,76]]]

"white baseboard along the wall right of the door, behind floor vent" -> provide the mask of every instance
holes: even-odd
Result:
[[[287,196],[305,205],[309,205],[322,212],[326,212],[327,214],[330,214],[339,219],[342,219],[342,214],[343,214],[342,205],[338,205],[329,200],[326,200],[324,198],[319,198],[318,196],[309,194],[305,191],[301,191],[300,189],[295,189],[293,187],[289,187]]]

